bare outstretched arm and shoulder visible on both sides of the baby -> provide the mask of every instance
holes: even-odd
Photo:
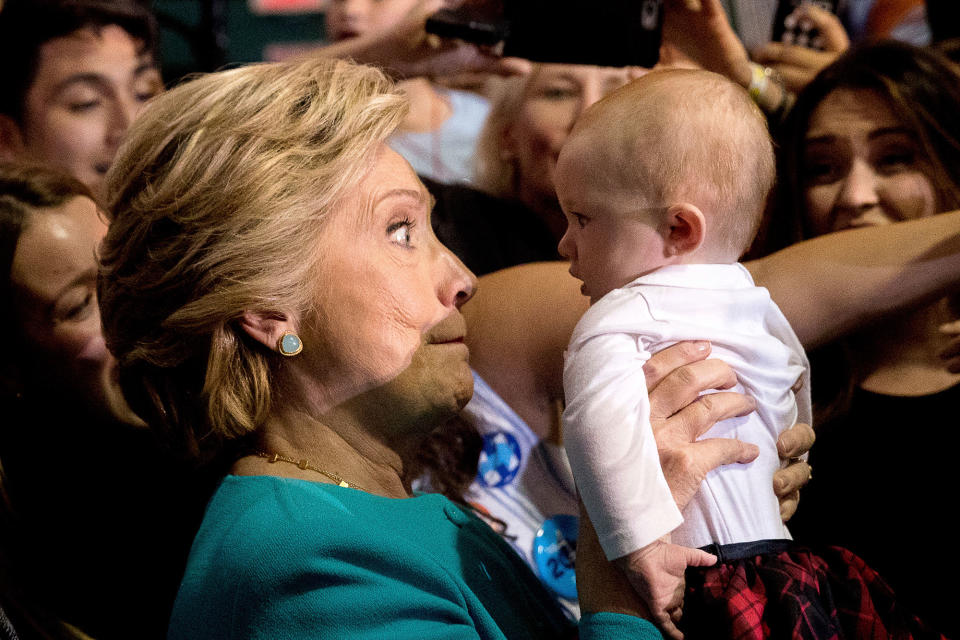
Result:
[[[810,349],[953,290],[960,211],[824,235],[746,266]],[[473,367],[547,437],[544,407],[563,397],[563,350],[587,299],[563,262],[504,269],[480,283],[463,310]]]

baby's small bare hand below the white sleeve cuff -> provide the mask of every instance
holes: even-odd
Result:
[[[677,623],[683,615],[683,574],[687,567],[708,567],[716,556],[700,549],[670,544],[664,536],[642,549],[617,558],[634,590],[650,608],[653,622],[665,635],[682,640]]]

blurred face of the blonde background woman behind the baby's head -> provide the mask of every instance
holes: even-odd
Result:
[[[516,119],[504,131],[502,148],[517,169],[517,194],[527,206],[559,212],[555,171],[560,148],[583,111],[626,84],[628,69],[543,64],[524,90]]]

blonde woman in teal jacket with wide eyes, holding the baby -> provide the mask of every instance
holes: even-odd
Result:
[[[171,638],[572,631],[503,540],[404,479],[472,393],[460,307],[476,286],[384,144],[404,109],[344,62],[236,69],[153,102],[108,178],[100,294],[125,394],[194,457],[232,461]],[[653,395],[705,388],[672,379],[684,393]],[[591,539],[585,523],[580,637],[659,637]]]

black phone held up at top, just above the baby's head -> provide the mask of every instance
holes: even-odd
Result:
[[[663,0],[474,0],[427,20],[427,31],[538,62],[652,67]]]

